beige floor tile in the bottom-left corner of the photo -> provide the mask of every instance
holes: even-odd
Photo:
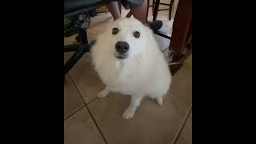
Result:
[[[64,144],[104,144],[86,108],[64,122]]]

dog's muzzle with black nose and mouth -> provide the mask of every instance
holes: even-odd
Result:
[[[127,58],[129,48],[130,46],[127,42],[121,42],[121,41],[117,42],[115,44],[115,50],[116,50],[115,56],[119,59]]]

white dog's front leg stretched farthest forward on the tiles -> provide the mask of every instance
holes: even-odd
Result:
[[[133,118],[134,113],[137,110],[138,106],[141,104],[141,102],[142,102],[142,96],[131,96],[130,106],[122,114],[122,118],[124,118],[124,119]]]

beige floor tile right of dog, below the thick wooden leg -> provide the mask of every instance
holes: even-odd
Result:
[[[171,94],[190,109],[192,106],[192,55],[187,58],[182,69],[174,75],[170,89]]]

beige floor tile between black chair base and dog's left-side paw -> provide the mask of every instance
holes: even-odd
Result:
[[[104,88],[102,81],[94,70],[90,56],[90,54],[85,54],[70,70],[70,76],[74,79],[74,84],[78,87],[86,103],[96,98],[98,92]]]

